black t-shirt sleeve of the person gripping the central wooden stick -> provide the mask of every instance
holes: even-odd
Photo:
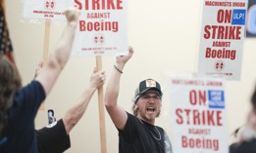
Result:
[[[70,136],[66,133],[63,120],[35,132],[39,153],[63,153],[71,147]]]

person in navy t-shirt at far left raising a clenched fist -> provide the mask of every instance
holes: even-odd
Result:
[[[34,118],[71,55],[79,10],[65,11],[67,25],[40,74],[25,87],[17,67],[0,55],[0,152],[37,153]]]

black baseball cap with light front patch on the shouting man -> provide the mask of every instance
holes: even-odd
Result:
[[[146,79],[139,83],[138,88],[135,90],[133,101],[135,102],[141,95],[148,91],[153,91],[159,96],[163,96],[160,84],[153,79]]]

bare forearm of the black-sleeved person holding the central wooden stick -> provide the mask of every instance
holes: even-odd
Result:
[[[82,115],[84,114],[88,103],[93,96],[96,88],[90,87],[85,90],[81,96],[77,99],[77,104],[73,106],[68,112],[65,114],[63,121],[66,128],[67,134],[69,134],[72,129],[77,125],[77,122],[80,120]]]

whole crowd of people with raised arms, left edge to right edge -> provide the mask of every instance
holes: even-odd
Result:
[[[76,8],[65,12],[67,25],[55,51],[45,63],[38,64],[34,79],[26,86],[22,86],[17,66],[0,54],[1,153],[62,153],[71,147],[70,132],[83,116],[95,91],[106,82],[105,71],[93,69],[88,86],[62,119],[39,130],[35,129],[34,120],[71,56],[79,14]],[[104,96],[106,110],[118,131],[119,152],[172,153],[169,135],[155,124],[163,96],[156,80],[147,78],[138,83],[132,99],[132,114],[120,105],[121,77],[133,53],[129,47],[128,55],[116,57]],[[251,105],[245,125],[235,132],[236,141],[230,144],[230,153],[256,152],[256,89]]]

